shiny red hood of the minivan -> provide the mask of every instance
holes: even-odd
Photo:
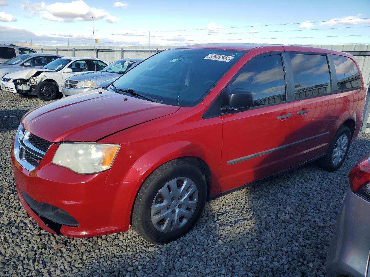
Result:
[[[125,98],[128,101],[124,101]],[[33,109],[23,116],[21,123],[30,133],[51,142],[97,141],[178,109],[96,89]]]

